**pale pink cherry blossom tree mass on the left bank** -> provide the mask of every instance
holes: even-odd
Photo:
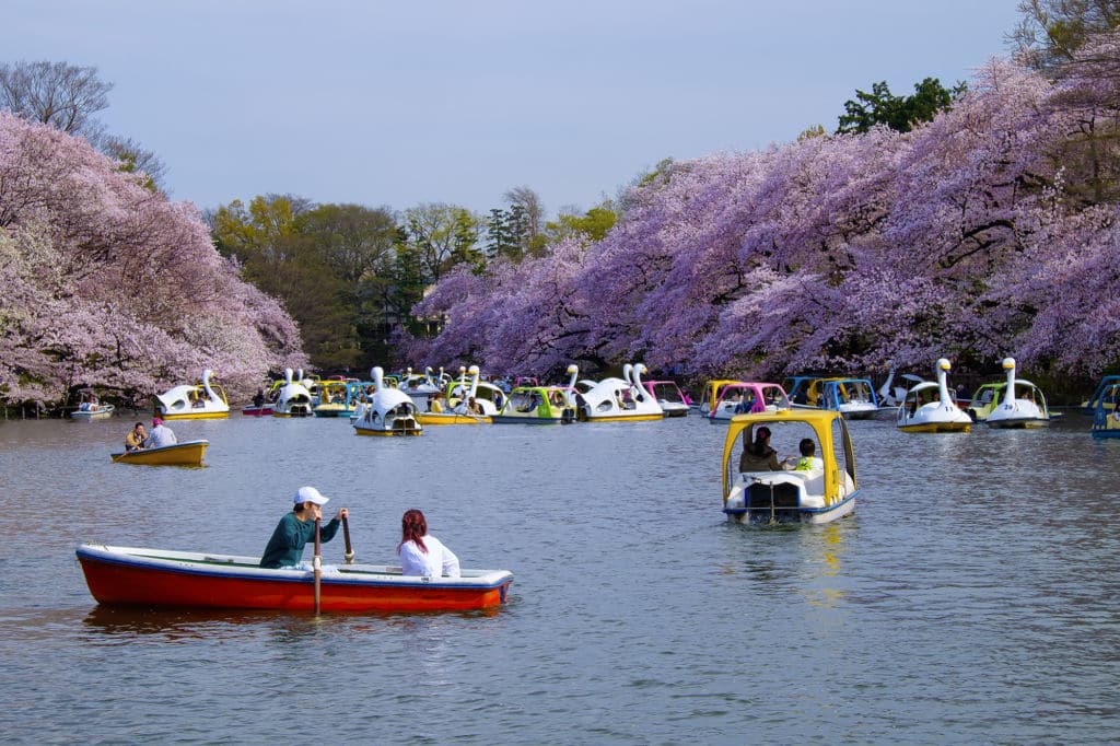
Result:
[[[204,367],[244,397],[306,363],[276,300],[169,203],[84,140],[0,113],[0,399],[77,383],[144,400]]]

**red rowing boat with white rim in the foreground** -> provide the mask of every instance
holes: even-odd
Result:
[[[82,544],[76,550],[99,604],[174,608],[315,610],[311,570],[259,567],[255,557]],[[401,575],[382,565],[325,566],[323,612],[454,612],[505,603],[513,574],[468,570],[459,578]]]

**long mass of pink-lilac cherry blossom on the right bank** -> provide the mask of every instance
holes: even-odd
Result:
[[[906,133],[669,164],[601,241],[445,278],[417,308],[445,330],[410,351],[745,377],[1014,354],[1099,374],[1120,361],[1117,204],[1084,186],[1120,172],[1117,58],[1113,34],[1056,81],[993,59]]]

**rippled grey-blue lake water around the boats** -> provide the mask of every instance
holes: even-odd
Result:
[[[196,469],[110,463],[130,422],[0,422],[6,743],[1120,738],[1120,441],[1075,412],[852,422],[855,514],[793,529],[724,520],[725,427],[694,414],[408,439],[172,423],[211,440]],[[351,509],[358,561],[392,561],[420,507],[465,567],[514,572],[510,603],[316,619],[85,587],[86,541],[259,554],[304,484]]]

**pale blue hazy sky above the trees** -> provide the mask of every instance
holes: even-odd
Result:
[[[200,208],[259,194],[588,209],[660,160],[837,127],[1006,56],[1018,0],[4,0],[0,63],[97,67]]]

